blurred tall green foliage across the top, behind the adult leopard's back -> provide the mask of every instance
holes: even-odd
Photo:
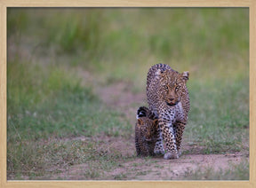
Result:
[[[12,8],[8,34],[36,49],[32,56],[111,72],[117,80],[145,80],[157,62],[197,79],[248,74],[249,68],[247,8]]]

